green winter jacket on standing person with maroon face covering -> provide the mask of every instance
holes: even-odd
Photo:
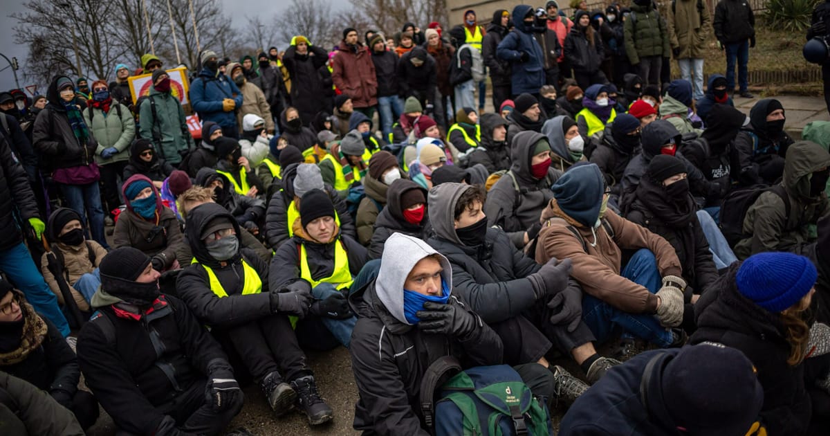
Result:
[[[154,119],[153,105],[155,101],[156,113],[159,119]],[[188,130],[188,120],[184,117],[182,105],[176,97],[169,93],[161,93],[150,88],[149,97],[141,103],[139,110],[139,134],[142,138],[153,140],[153,129],[157,128],[161,134],[161,158],[168,164],[178,164],[182,161],[179,151],[190,148],[192,137]],[[155,144],[159,149],[159,145]]]

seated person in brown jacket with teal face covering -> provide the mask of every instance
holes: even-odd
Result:
[[[178,269],[176,252],[183,243],[176,214],[161,203],[159,189],[150,179],[136,174],[124,182],[121,189],[127,210],[115,222],[113,247],[138,248],[152,257],[158,272]]]

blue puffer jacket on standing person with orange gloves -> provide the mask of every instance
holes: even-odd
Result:
[[[224,74],[213,76],[212,71],[204,69],[190,84],[190,105],[203,122],[213,121],[222,127],[237,125],[235,111],[222,110],[222,100],[227,98],[237,104],[237,109],[242,107],[242,92]]]

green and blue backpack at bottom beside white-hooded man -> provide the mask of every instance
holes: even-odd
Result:
[[[422,380],[422,411],[427,427],[434,434],[553,434],[545,399],[535,398],[510,365],[460,370],[461,365],[455,358],[445,356],[430,365]],[[455,371],[460,372],[437,389],[436,400],[429,384],[437,386],[443,375]]]

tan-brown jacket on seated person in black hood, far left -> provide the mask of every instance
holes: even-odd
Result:
[[[90,244],[92,252],[95,253],[95,265],[90,262],[89,252],[86,250],[87,243]],[[100,265],[101,259],[106,256],[105,248],[101,247],[100,244],[95,241],[86,241],[84,244],[76,247],[72,247],[61,242],[54,242],[52,246],[58,250],[61,250],[61,254],[63,254],[63,270],[69,273],[69,282],[66,284],[69,285],[69,291],[72,293],[72,298],[75,299],[75,304],[78,306],[78,309],[81,309],[81,311],[89,311],[89,303],[86,302],[84,296],[81,295],[81,292],[76,291],[72,285],[74,285],[75,282],[81,278],[81,276],[88,272],[92,272]],[[49,261],[46,260],[47,254],[48,252],[45,252],[41,257],[41,271],[43,272],[43,279],[46,280],[46,284],[49,285],[49,289],[51,289],[52,292],[55,292],[58,304],[63,306],[64,301],[63,295],[61,295],[61,287],[58,286],[57,279],[54,275],[52,275],[51,271],[49,271]],[[66,280],[66,276],[63,278]]]

